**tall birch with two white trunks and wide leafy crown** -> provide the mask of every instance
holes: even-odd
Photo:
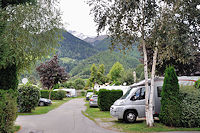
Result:
[[[179,55],[173,47],[182,46],[181,42],[184,40],[185,35],[188,35],[187,37],[189,37],[190,41],[186,41],[188,39],[186,37],[185,45],[182,46],[182,48],[187,49],[186,46],[191,47],[189,44],[193,44],[194,40],[195,42],[199,42],[197,39],[199,38],[199,13],[197,11],[199,10],[197,8],[199,2],[197,0],[192,0],[192,2],[189,0],[90,0],[89,4],[93,6],[92,12],[94,14],[94,20],[98,24],[97,31],[101,32],[105,30],[107,26],[107,33],[111,36],[113,42],[112,48],[115,48],[116,45],[119,44],[118,42],[120,42],[121,46],[118,48],[126,50],[130,48],[136,40],[140,40],[140,46],[142,47],[144,56],[146,122],[147,125],[153,126],[154,89],[150,89],[149,95],[146,47],[150,45],[152,48],[150,51],[153,55],[151,65],[151,88],[154,88],[157,54],[160,52],[160,49],[165,48],[169,55],[171,51]],[[188,14],[187,11],[189,11]],[[178,17],[179,15],[183,19],[180,19]],[[192,21],[193,19],[194,21]],[[184,23],[188,25],[186,29],[189,32],[182,32],[184,31],[181,30],[184,29]],[[190,34],[192,31],[195,32]],[[195,45],[196,44],[197,43],[195,43]],[[197,45],[199,47],[199,43]],[[198,51],[199,50],[196,50],[196,52]],[[170,56],[174,55],[171,54]],[[177,57],[178,60],[182,60],[181,56]],[[163,60],[165,58],[166,56],[163,56]]]

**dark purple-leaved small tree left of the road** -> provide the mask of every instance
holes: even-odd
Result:
[[[40,81],[44,88],[48,88],[49,99],[51,98],[51,91],[53,86],[68,80],[69,76],[65,72],[65,69],[60,67],[58,64],[58,57],[54,56],[53,59],[42,63],[36,68],[40,75]]]

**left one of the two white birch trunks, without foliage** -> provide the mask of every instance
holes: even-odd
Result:
[[[147,66],[147,51],[146,43],[144,39],[142,40],[143,53],[144,53],[144,77],[145,77],[145,114],[146,114],[146,124],[149,125],[149,87],[148,87],[148,66]]]

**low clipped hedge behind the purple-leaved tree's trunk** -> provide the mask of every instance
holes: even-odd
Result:
[[[40,90],[41,98],[49,99],[49,90]],[[51,92],[51,100],[63,100],[66,97],[66,92],[59,90],[59,91],[52,91]]]

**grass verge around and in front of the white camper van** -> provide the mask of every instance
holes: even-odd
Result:
[[[104,123],[112,122],[113,123],[111,125],[112,127],[114,127],[115,129],[119,129],[120,131],[123,131],[123,132],[142,133],[142,132],[166,132],[166,131],[200,131],[200,128],[167,127],[159,123],[159,121],[155,121],[155,126],[151,128],[146,126],[146,123],[144,120],[137,120],[137,122],[134,124],[128,124],[123,121],[110,119],[112,117],[110,116],[109,111],[100,111],[99,108],[90,108],[88,103],[86,103],[85,106],[87,107],[87,109],[85,112],[83,112],[83,114],[87,116],[89,119],[95,121],[96,123],[98,123],[96,120],[99,118],[101,119],[101,122],[104,122]]]

